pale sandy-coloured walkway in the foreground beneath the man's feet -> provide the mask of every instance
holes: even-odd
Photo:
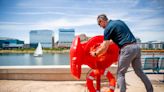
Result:
[[[148,75],[153,83],[154,92],[164,92],[163,75]],[[126,74],[127,92],[146,92],[141,80],[134,74]],[[106,89],[107,82],[103,83]],[[87,92],[85,81],[30,81],[0,80],[0,92]],[[103,91],[102,91],[103,92]],[[119,92],[116,88],[115,92]]]

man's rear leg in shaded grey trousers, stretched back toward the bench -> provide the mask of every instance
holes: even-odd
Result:
[[[137,57],[135,58],[134,61],[132,61],[132,67],[134,68],[134,71],[137,74],[137,76],[144,83],[147,92],[153,92],[153,87],[152,87],[152,84],[151,84],[150,80],[148,79],[148,77],[142,71],[142,66],[141,66],[141,53],[140,53],[140,50],[139,49],[138,49],[138,52],[137,53],[138,53],[137,54]]]

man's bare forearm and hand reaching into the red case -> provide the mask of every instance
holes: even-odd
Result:
[[[111,40],[103,41],[100,48],[98,48],[96,51],[91,51],[90,54],[95,57],[95,56],[98,56],[102,53],[105,53],[109,47],[110,42],[111,42]]]

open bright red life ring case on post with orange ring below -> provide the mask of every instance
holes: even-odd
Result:
[[[70,48],[71,73],[75,78],[80,79],[82,65],[88,65],[92,68],[86,78],[89,92],[100,92],[101,75],[106,76],[109,80],[109,90],[106,92],[114,92],[116,85],[114,76],[107,68],[117,61],[119,55],[118,46],[111,42],[106,53],[96,57],[90,55],[90,51],[99,48],[102,42],[103,36],[95,36],[85,43],[80,43],[79,36],[76,36]],[[96,80],[96,88],[93,85],[94,79]]]

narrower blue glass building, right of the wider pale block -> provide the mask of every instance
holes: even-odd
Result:
[[[74,29],[59,29],[59,47],[70,47],[73,38],[75,37]]]

